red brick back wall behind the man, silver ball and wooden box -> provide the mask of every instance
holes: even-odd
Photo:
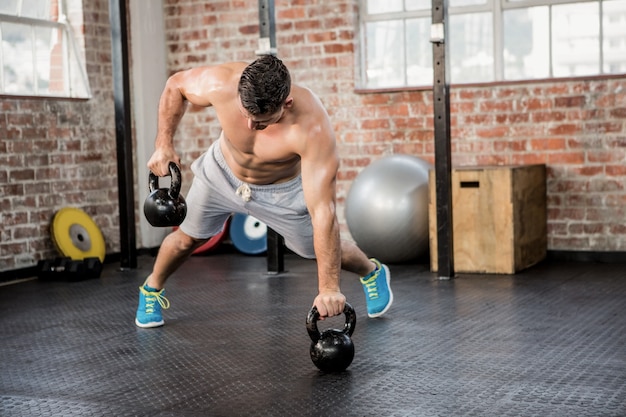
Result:
[[[252,60],[256,2],[168,0],[169,68]],[[351,181],[381,155],[433,162],[430,91],[355,92],[356,0],[276,0],[278,54],[327,105],[342,168],[340,220]],[[626,78],[451,89],[453,163],[545,163],[551,250],[626,250]],[[187,115],[185,162],[215,138],[211,111]],[[200,139],[197,139],[200,138]]]

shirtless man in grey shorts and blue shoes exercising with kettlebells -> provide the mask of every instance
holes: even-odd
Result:
[[[343,312],[341,269],[361,278],[370,317],[391,306],[389,269],[352,242],[341,240],[335,181],[339,166],[332,126],[320,100],[291,84],[289,71],[265,55],[250,65],[232,62],[172,75],[161,95],[156,150],[148,168],[158,176],[180,165],[174,132],[186,102],[213,106],[219,139],[192,164],[187,217],[161,245],[152,273],[139,288],[135,324],[162,326],[167,278],[233,212],[256,217],[280,233],[296,254],[316,259],[320,317]]]

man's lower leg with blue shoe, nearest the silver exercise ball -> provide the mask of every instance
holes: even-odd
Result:
[[[393,303],[393,292],[387,265],[381,264],[376,259],[368,259],[354,243],[342,240],[341,267],[360,277],[369,317],[380,317],[389,310]]]

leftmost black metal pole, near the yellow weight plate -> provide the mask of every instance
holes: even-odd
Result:
[[[120,211],[120,266],[124,269],[137,268],[126,0],[109,0],[109,19]]]

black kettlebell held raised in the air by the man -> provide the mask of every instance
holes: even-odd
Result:
[[[178,166],[170,162],[172,182],[170,188],[158,188],[159,177],[150,172],[148,182],[150,194],[143,204],[143,213],[154,227],[180,225],[187,215],[187,203],[180,195],[181,175]]]

